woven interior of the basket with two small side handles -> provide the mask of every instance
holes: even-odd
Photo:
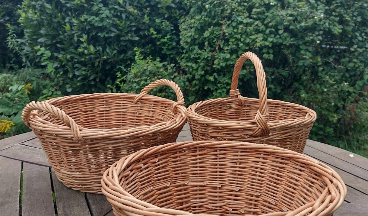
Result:
[[[107,95],[107,94],[106,94]],[[174,101],[145,96],[139,103],[132,101],[136,94],[120,94],[116,98],[87,98],[52,102],[84,128],[134,128],[167,122],[177,117],[171,109]],[[65,125],[48,112],[39,111],[40,117],[56,125]]]

